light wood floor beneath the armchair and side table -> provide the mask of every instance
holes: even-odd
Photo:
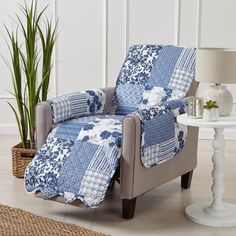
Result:
[[[81,209],[65,204],[45,201],[29,195],[22,179],[12,176],[10,148],[18,141],[15,135],[0,135],[0,203],[18,207],[36,215],[86,228],[113,236],[161,235],[161,236],[236,236],[236,227],[215,228],[190,222],[184,209],[190,203],[211,199],[211,141],[200,140],[198,166],[189,190],[180,188],[180,178],[175,179],[137,200],[135,217],[121,218],[119,186],[108,193],[97,209]],[[227,141],[225,148],[224,200],[236,204],[236,141]],[[0,219],[1,220],[1,219]]]

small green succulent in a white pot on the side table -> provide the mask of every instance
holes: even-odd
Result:
[[[217,121],[219,118],[219,107],[216,101],[209,100],[204,105],[203,119],[206,121]]]

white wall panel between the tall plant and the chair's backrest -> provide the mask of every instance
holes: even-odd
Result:
[[[58,1],[58,94],[104,86],[104,3]]]

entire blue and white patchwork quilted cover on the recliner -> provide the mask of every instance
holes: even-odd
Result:
[[[183,98],[194,80],[195,56],[194,48],[132,46],[107,115],[100,89],[49,100],[53,129],[26,169],[26,191],[98,207],[119,167],[122,120],[130,113],[141,121],[140,156],[145,167],[179,154],[187,130],[176,116],[185,112]]]

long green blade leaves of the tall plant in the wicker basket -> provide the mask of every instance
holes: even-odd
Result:
[[[39,101],[47,99],[50,72],[52,68],[52,53],[56,39],[56,27],[53,28],[46,18],[46,30],[40,27],[41,18],[47,7],[37,12],[37,1],[32,1],[31,6],[20,5],[25,19],[17,16],[17,24],[23,34],[22,46],[17,38],[17,33],[10,33],[7,29],[11,44],[11,71],[13,78],[14,96],[17,100],[18,113],[10,104],[16,116],[19,133],[23,147],[30,139],[31,148],[35,148],[35,110]],[[25,21],[24,21],[25,20]],[[42,49],[37,45],[41,39]],[[41,55],[42,54],[42,55]],[[42,59],[43,57],[43,59]],[[42,60],[42,77],[39,79],[39,65]],[[25,84],[25,87],[23,87]],[[42,98],[40,93],[42,91]],[[29,137],[28,137],[29,136]]]

